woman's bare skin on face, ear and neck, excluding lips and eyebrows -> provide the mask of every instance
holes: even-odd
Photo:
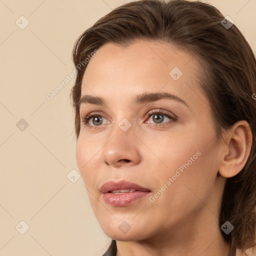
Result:
[[[81,123],[76,161],[95,216],[116,240],[118,256],[228,256],[218,205],[226,178],[246,163],[251,132],[246,121],[239,121],[217,143],[192,56],[166,42],[106,43],[85,70],[81,95],[100,96],[105,105],[81,104],[81,119],[97,111],[102,123],[93,117],[88,126]],[[169,75],[173,67],[183,72],[178,80]],[[172,99],[132,104],[134,95],[145,92],[175,94],[188,107]],[[165,116],[157,123],[146,117],[159,108],[178,119]],[[118,126],[123,118],[131,124],[127,131]],[[100,187],[108,180],[129,180],[154,195],[197,151],[200,156],[155,201],[148,195],[116,207],[102,199]],[[131,227],[127,233],[118,228],[123,221]]]

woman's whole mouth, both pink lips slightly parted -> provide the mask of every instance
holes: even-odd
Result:
[[[136,183],[121,180],[118,182],[107,181],[101,188],[103,200],[111,206],[125,206],[146,197],[151,190]]]

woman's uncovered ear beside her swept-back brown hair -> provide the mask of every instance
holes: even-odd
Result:
[[[232,177],[244,167],[251,149],[252,133],[247,121],[240,120],[226,132],[219,174]]]

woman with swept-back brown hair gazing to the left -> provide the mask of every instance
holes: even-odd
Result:
[[[129,2],[79,36],[73,62],[76,160],[112,238],[104,256],[252,247],[256,61],[235,24],[202,2]]]

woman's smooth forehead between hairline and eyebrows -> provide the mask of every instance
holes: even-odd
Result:
[[[194,93],[204,97],[193,54],[171,43],[136,41],[129,46],[106,43],[98,50],[87,64],[81,95],[125,100],[143,92],[168,91],[186,99],[195,96]]]

